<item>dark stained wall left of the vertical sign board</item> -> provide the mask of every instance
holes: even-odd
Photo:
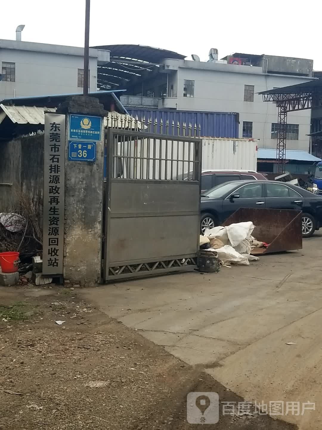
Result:
[[[43,155],[43,135],[0,143],[0,212],[17,209],[21,191],[30,201],[42,203]]]

